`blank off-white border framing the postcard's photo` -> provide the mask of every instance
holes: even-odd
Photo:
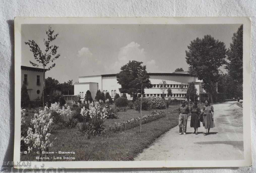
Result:
[[[15,30],[15,137],[14,163],[20,161],[20,88],[22,24],[243,24],[243,144],[244,160],[166,161],[42,161],[31,167],[15,168],[157,168],[157,167],[240,167],[251,166],[251,104],[249,17],[16,17]],[[247,99],[246,99],[247,98]]]

